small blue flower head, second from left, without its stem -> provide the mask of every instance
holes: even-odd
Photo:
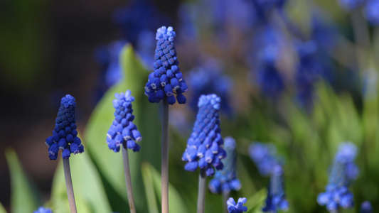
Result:
[[[115,153],[119,152],[120,146],[132,149],[134,152],[139,151],[139,142],[142,140],[141,133],[137,130],[137,126],[133,124],[134,115],[132,114],[132,97],[131,92],[127,90],[114,94],[116,99],[113,100],[114,121],[110,130],[107,133],[108,148],[112,149]]]

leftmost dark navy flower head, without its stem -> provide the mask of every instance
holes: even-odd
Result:
[[[75,107],[75,98],[70,94],[66,94],[60,100],[53,136],[46,138],[50,160],[57,160],[59,150],[62,150],[63,159],[70,158],[71,153],[76,155],[84,151],[84,146],[76,131]]]

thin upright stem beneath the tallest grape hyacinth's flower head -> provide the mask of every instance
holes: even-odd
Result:
[[[169,103],[167,97],[162,106],[162,213],[169,213]]]

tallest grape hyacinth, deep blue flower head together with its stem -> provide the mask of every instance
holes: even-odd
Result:
[[[162,26],[156,31],[156,48],[154,55],[154,72],[149,75],[145,86],[145,94],[149,102],[162,104],[162,155],[161,155],[161,180],[162,180],[162,213],[169,212],[169,104],[176,100],[179,104],[186,104],[188,87],[178,67],[178,56],[174,38],[176,33],[170,26]],[[176,97],[175,97],[176,95]]]

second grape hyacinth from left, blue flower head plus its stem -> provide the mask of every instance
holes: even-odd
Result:
[[[134,152],[139,151],[139,142],[142,140],[141,133],[139,133],[137,126],[133,124],[134,115],[132,114],[132,97],[131,92],[116,93],[114,94],[116,99],[113,100],[114,121],[110,130],[107,133],[107,144],[114,152],[119,152],[122,147],[122,159],[124,161],[124,174],[127,183],[127,194],[129,200],[130,212],[136,212],[134,204],[134,196],[132,189],[132,178],[130,176],[129,157],[127,149],[132,149]]]

